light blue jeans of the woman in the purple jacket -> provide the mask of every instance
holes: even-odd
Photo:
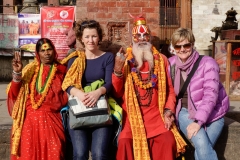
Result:
[[[193,122],[189,119],[188,110],[182,107],[179,112],[179,127],[187,137],[187,126]],[[218,160],[217,154],[213,149],[218,137],[220,136],[224,126],[224,118],[220,118],[210,124],[202,126],[196,136],[191,141],[194,145],[195,160]]]

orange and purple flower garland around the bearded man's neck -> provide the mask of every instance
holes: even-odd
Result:
[[[142,89],[148,89],[151,87],[155,87],[156,81],[157,81],[157,73],[159,70],[159,52],[155,48],[153,48],[154,70],[151,75],[151,80],[148,83],[144,83],[142,80],[139,79],[139,76],[138,76],[139,73],[138,73],[137,69],[134,67],[135,59],[133,58],[133,55],[132,55],[132,49],[128,48],[127,53],[128,53],[128,55],[130,55],[128,57],[128,60],[130,63],[132,63],[131,75],[133,77],[133,81],[134,81],[135,85]]]

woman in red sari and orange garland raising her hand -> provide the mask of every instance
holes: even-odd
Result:
[[[66,66],[57,61],[53,43],[41,38],[36,58],[23,68],[15,53],[8,86],[8,110],[13,119],[11,160],[63,160],[65,134],[60,110],[67,104],[61,88]]]

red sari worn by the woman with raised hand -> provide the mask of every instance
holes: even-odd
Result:
[[[49,72],[49,66],[44,66],[43,83]],[[28,94],[25,105],[25,116],[21,131],[19,157],[11,156],[12,160],[63,160],[65,151],[65,134],[60,115],[61,108],[67,103],[67,94],[61,85],[66,73],[66,67],[58,65],[48,94],[42,105],[33,109]],[[8,99],[16,99],[21,83],[11,83]],[[35,91],[35,99],[40,95]]]

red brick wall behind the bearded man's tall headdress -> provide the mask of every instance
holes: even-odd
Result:
[[[128,29],[131,31],[133,19],[129,13],[133,16],[143,13],[155,37],[153,43],[158,48],[159,0],[77,0],[76,6],[76,20],[97,20],[104,28],[105,35],[108,34],[108,22],[129,22]]]

